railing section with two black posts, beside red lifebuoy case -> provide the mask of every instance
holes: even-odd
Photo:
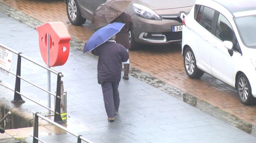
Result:
[[[4,46],[4,45],[2,45],[2,44],[0,43],[0,48],[1,48],[1,47],[4,48],[4,49],[9,50],[10,52],[12,52],[12,53],[14,53],[14,54],[17,54],[17,55],[18,55],[16,74],[13,73],[13,72],[11,72],[11,71],[8,71],[8,70],[4,69],[4,70],[8,71],[9,73],[11,73],[12,75],[16,76],[16,80],[15,80],[15,89],[11,89],[10,87],[4,85],[3,83],[0,83],[0,85],[6,87],[7,89],[10,89],[10,90],[14,91],[14,99],[13,99],[11,102],[12,102],[12,103],[25,103],[25,101],[24,101],[24,100],[22,99],[22,97],[21,97],[21,96],[23,96],[23,97],[25,97],[25,98],[31,100],[32,102],[35,102],[36,104],[38,104],[38,105],[40,105],[40,106],[46,108],[47,110],[50,110],[50,111],[52,111],[53,113],[55,113],[55,114],[54,114],[54,122],[57,122],[57,123],[64,123],[63,120],[62,120],[62,118],[61,118],[61,78],[62,78],[64,75],[63,75],[61,72],[57,72],[57,71],[55,71],[55,70],[53,70],[53,69],[51,69],[51,68],[49,68],[49,67],[47,67],[47,66],[45,66],[45,65],[43,65],[43,64],[41,64],[41,63],[39,63],[39,62],[34,61],[32,58],[30,58],[30,57],[28,57],[28,56],[26,56],[26,55],[24,55],[24,54],[22,54],[22,53],[20,53],[20,52],[17,52],[17,51],[15,51],[15,50],[13,50],[13,49],[7,47],[7,46]],[[36,84],[34,84],[34,83],[32,83],[32,82],[30,82],[29,80],[26,80],[26,79],[23,78],[23,77],[21,77],[21,58],[22,58],[22,57],[23,57],[24,59],[27,59],[28,61],[34,63],[34,64],[36,64],[36,65],[38,65],[38,66],[40,66],[40,67],[46,69],[47,71],[50,71],[50,72],[52,72],[52,73],[54,73],[54,74],[57,75],[56,94],[53,93],[53,92],[50,92],[49,90],[46,90],[46,89],[44,89],[44,88],[38,86],[38,85],[36,85]],[[49,94],[55,96],[55,97],[56,97],[56,100],[55,100],[55,110],[53,110],[53,109],[51,109],[51,108],[49,108],[49,107],[47,107],[47,106],[45,106],[45,105],[39,103],[38,101],[36,101],[36,100],[34,100],[34,99],[31,99],[29,96],[27,96],[27,95],[21,93],[21,92],[20,92],[20,88],[21,88],[21,79],[22,79],[23,81],[25,81],[25,82],[27,82],[27,83],[29,83],[29,84],[31,84],[31,85],[33,85],[33,86],[39,88],[39,89],[41,89],[41,90],[47,92],[47,93],[49,93]]]

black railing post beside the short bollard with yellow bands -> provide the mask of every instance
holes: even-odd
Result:
[[[55,100],[55,114],[54,122],[58,124],[64,124],[61,118],[61,72],[57,75],[57,88],[56,88],[56,100]]]

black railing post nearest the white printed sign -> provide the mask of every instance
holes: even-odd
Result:
[[[21,56],[18,54],[18,61],[17,61],[17,70],[16,70],[16,81],[15,81],[15,89],[14,89],[14,100],[12,100],[12,103],[25,103],[25,101],[21,98],[21,95],[18,94],[16,91],[20,92],[20,78],[18,76],[21,76]]]

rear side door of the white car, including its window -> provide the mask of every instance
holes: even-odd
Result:
[[[212,20],[215,15],[215,10],[200,6],[200,9],[198,11],[197,16],[195,17],[195,20],[197,21],[196,24],[194,24],[194,33],[195,36],[191,37],[193,38],[195,51],[195,57],[196,57],[196,64],[197,67],[201,70],[212,74],[211,73],[211,62],[210,62],[210,48],[211,43],[211,37],[212,37]]]

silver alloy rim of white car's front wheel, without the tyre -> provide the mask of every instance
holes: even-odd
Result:
[[[249,94],[249,88],[248,88],[247,81],[243,77],[239,79],[238,92],[239,92],[240,98],[243,101],[246,101]]]

